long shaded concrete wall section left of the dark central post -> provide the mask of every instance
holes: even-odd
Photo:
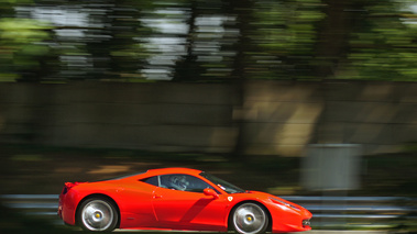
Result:
[[[7,83],[1,142],[151,151],[228,151],[233,144],[223,85]]]

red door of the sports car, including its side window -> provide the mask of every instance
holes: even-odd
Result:
[[[154,190],[153,207],[157,222],[164,229],[226,231],[226,197],[206,196],[213,189],[201,179],[183,174],[160,177]]]

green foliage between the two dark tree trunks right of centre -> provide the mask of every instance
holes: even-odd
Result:
[[[251,78],[303,77],[317,44],[317,23],[326,15],[320,0],[256,1],[253,43],[256,71]],[[296,74],[299,73],[299,74]]]

